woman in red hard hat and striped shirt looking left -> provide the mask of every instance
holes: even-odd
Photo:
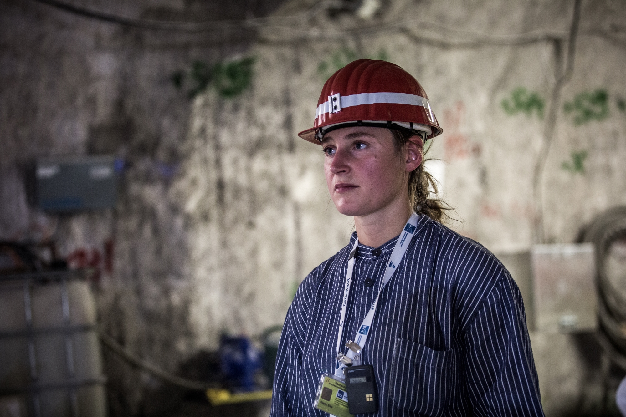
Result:
[[[356,232],[289,308],[272,416],[346,415],[344,391],[352,413],[367,415],[543,415],[518,287],[488,250],[444,227],[428,198],[424,142],[441,132],[399,66],[360,59],[324,85],[300,136],[322,145],[332,201]],[[346,379],[356,371],[367,378]],[[331,379],[347,382],[324,386],[324,403]]]

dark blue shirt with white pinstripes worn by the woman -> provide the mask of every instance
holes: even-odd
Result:
[[[335,369],[354,239],[302,281],[289,307],[272,417],[328,415],[312,403],[319,377]],[[396,239],[379,247],[380,254],[359,244],[342,346],[371,307]],[[364,285],[367,278],[373,286]],[[381,293],[362,363],[374,367],[376,416],[543,416],[526,315],[511,275],[483,246],[425,215]]]

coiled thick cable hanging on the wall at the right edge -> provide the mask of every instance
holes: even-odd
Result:
[[[583,230],[580,240],[595,244],[598,342],[613,363],[626,370],[626,297],[615,287],[607,270],[613,243],[626,240],[626,207],[615,207],[598,215]]]

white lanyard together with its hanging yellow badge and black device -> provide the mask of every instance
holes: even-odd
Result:
[[[398,240],[396,241],[396,246],[391,252],[391,257],[389,257],[389,263],[385,268],[384,275],[382,275],[382,283],[381,287],[378,291],[376,299],[372,303],[372,307],[367,312],[361,326],[359,327],[359,331],[356,336],[354,336],[353,340],[349,340],[346,342],[346,348],[348,348],[347,354],[342,353],[341,348],[341,338],[344,332],[344,323],[346,321],[346,309],[347,309],[347,301],[348,296],[350,294],[350,287],[352,284],[352,272],[354,271],[354,257],[356,255],[356,249],[359,246],[359,239],[357,238],[352,246],[352,250],[350,252],[350,257],[348,259],[348,267],[346,272],[346,284],[344,286],[344,294],[342,298],[341,304],[341,316],[339,317],[339,331],[337,334],[337,364],[334,372],[334,376],[329,374],[324,374],[320,380],[320,386],[318,389],[316,403],[314,405],[316,408],[322,409],[321,404],[317,404],[324,399],[324,392],[327,394],[331,393],[332,396],[337,397],[337,399],[342,399],[342,401],[337,401],[335,399],[334,404],[339,406],[340,403],[349,404],[349,413],[350,414],[361,414],[361,413],[372,413],[377,409],[377,401],[376,401],[376,390],[374,389],[374,373],[371,366],[362,366],[361,365],[361,351],[364,348],[367,337],[371,334],[372,331],[372,321],[374,321],[374,314],[376,313],[376,307],[378,305],[378,299],[381,296],[381,292],[384,287],[387,285],[387,282],[393,276],[396,268],[400,264],[401,260],[404,257],[406,249],[409,247],[411,243],[411,239],[413,238],[413,234],[417,229],[419,216],[415,213],[411,214],[408,222],[404,225],[404,229]],[[346,383],[346,393],[342,391],[342,384],[340,385],[329,385],[328,387],[324,386],[324,381],[327,379],[334,379],[337,383]],[[333,384],[336,382],[331,381]],[[326,391],[324,391],[326,390]],[[337,393],[335,392],[337,391]],[[330,395],[328,395],[330,396]],[[362,398],[361,398],[362,397]],[[350,401],[347,399],[350,398]],[[330,398],[329,398],[330,399]],[[318,406],[320,405],[320,406]],[[346,407],[347,408],[347,407]],[[323,409],[322,411],[327,411]],[[333,415],[339,415],[337,413],[336,408],[332,409],[330,412]],[[347,411],[347,410],[346,410]]]

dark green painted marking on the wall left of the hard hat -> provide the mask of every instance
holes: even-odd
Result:
[[[182,89],[187,86],[187,94],[193,98],[212,85],[224,98],[240,95],[252,84],[254,58],[248,57],[226,63],[218,62],[209,66],[203,61],[192,63],[188,71],[176,71],[172,74],[172,83]]]

